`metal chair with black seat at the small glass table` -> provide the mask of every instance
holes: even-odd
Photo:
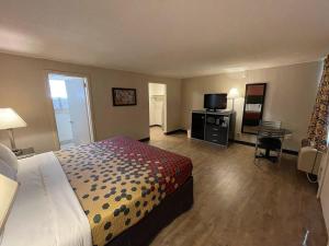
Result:
[[[254,159],[268,159],[272,162],[281,160],[284,133],[281,130],[281,121],[261,121],[256,140]],[[265,154],[258,154],[259,149],[264,149]],[[276,152],[276,156],[271,155]]]

